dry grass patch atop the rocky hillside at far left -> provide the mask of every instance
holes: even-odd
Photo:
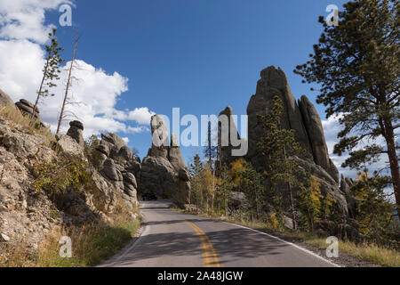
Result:
[[[40,126],[39,121],[32,121],[28,116],[23,116],[20,110],[10,106],[0,106],[0,118],[9,120],[12,127],[20,129],[27,134],[40,134],[53,139],[53,135],[48,127]]]

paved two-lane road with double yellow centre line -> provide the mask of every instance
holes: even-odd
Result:
[[[138,240],[102,266],[332,267],[306,250],[235,224],[172,211],[171,201],[143,201]]]

